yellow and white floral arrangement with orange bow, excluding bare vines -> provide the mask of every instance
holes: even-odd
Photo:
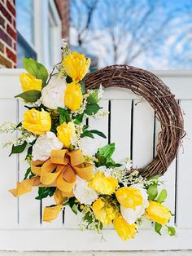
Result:
[[[28,110],[24,121],[17,125],[5,122],[0,130],[20,133],[6,145],[11,144],[11,154],[27,148],[25,159],[30,167],[10,192],[21,196],[38,187],[37,200],[54,196],[55,205],[44,209],[45,222],[57,218],[69,205],[75,214],[81,212],[81,229],[101,232],[112,223],[126,241],[135,236],[145,218],[155,223],[155,232],[161,234],[165,227],[174,236],[174,227],[168,226],[172,214],[162,205],[167,192],[163,189],[158,195],[159,177],[142,178],[132,170],[129,159],[116,163],[111,158],[115,143],[99,148],[98,136],[106,136],[85,125],[89,117],[108,114],[98,104],[103,87],[85,91],[89,65],[85,55],[71,52],[68,46],[50,76],[36,60],[24,59],[28,73],[20,74],[23,93],[15,97],[24,99]]]

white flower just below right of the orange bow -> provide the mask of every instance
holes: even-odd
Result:
[[[98,193],[94,188],[89,187],[89,184],[85,179],[81,179],[76,175],[76,182],[73,187],[73,194],[81,204],[91,205],[95,200],[98,199]]]

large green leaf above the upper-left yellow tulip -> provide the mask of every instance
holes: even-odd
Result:
[[[24,68],[28,71],[28,73],[30,73],[34,77],[41,79],[43,81],[44,86],[46,85],[48,72],[43,64],[31,58],[24,58]]]

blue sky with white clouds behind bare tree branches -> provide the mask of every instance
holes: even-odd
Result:
[[[72,6],[72,21],[79,25],[86,18],[84,1],[86,0],[76,0],[79,2],[81,7],[81,19],[78,22],[78,13],[76,14],[74,7]],[[123,38],[119,48],[123,49],[123,55],[134,55],[137,53],[138,49],[145,46],[145,40],[150,41],[152,39],[153,31],[157,30],[155,33],[155,42],[151,43],[148,48],[143,51],[137,58],[129,62],[128,64],[137,65],[142,68],[151,69],[190,69],[192,68],[192,1],[179,1],[179,0],[140,0],[133,1],[136,6],[140,8],[137,16],[134,17],[133,12],[137,11],[137,7],[132,10],[132,5],[129,5],[129,15],[126,16],[124,24],[120,24],[118,20],[124,19],[122,17],[126,6],[129,4],[129,0],[111,0],[110,7],[106,6],[107,0],[98,0],[98,7],[94,13],[94,18],[91,24],[91,29],[87,34],[87,42],[85,42],[84,47],[86,51],[91,54],[97,55],[99,58],[99,66],[102,67],[106,64],[115,64],[113,60],[113,53],[111,51],[111,38],[108,35],[109,26],[103,23],[104,20],[110,20],[111,13],[115,14],[116,19],[116,38],[118,34],[123,29]],[[139,24],[139,20],[142,20],[142,15],[145,15],[145,10],[150,5],[155,6],[155,11],[148,19],[148,22],[140,31],[134,31]],[[118,18],[117,18],[118,17]],[[159,24],[163,24],[164,20],[168,19],[168,22],[164,26],[164,29],[160,29]],[[133,23],[131,26],[129,23]],[[124,29],[125,26],[128,29]],[[159,30],[157,29],[159,26]],[[134,34],[135,33],[135,34]],[[141,33],[141,37],[139,37]],[[95,37],[96,35],[96,37]],[[135,37],[133,41],[133,36]],[[97,40],[95,39],[97,38]],[[146,41],[147,41],[146,40]],[[153,41],[151,40],[151,41]],[[133,41],[133,46],[130,49],[129,41]],[[72,27],[71,29],[71,42],[76,45],[76,29]],[[126,47],[126,43],[127,47]],[[124,62],[124,56],[116,61]],[[126,59],[126,58],[125,58]]]

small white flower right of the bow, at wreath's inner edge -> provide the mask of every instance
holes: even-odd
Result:
[[[90,137],[83,137],[79,140],[79,147],[85,156],[94,156],[101,147],[101,140],[95,135],[95,139]]]

